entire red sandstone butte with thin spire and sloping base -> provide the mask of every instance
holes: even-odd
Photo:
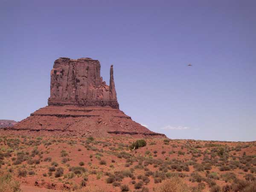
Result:
[[[48,106],[3,131],[21,135],[166,137],[119,110],[113,65],[109,85],[102,81],[100,68],[99,61],[91,58],[58,58],[51,70]]]

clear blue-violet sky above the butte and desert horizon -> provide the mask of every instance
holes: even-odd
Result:
[[[90,57],[106,82],[114,65],[120,109],[152,131],[256,140],[255,10],[255,0],[0,0],[0,119],[47,105],[55,59]]]

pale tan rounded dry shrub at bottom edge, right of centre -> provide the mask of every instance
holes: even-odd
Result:
[[[191,190],[182,179],[173,177],[158,184],[155,192],[191,192]]]

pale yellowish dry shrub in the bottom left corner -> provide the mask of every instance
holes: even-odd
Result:
[[[0,171],[0,192],[20,192],[20,183],[9,173]]]

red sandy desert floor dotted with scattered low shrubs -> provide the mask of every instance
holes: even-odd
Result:
[[[256,142],[148,138],[146,146],[130,150],[136,140],[2,135],[1,172],[19,181],[23,192],[84,187],[153,192],[173,177],[196,192],[225,191],[225,187],[236,191],[243,182],[255,185]]]

